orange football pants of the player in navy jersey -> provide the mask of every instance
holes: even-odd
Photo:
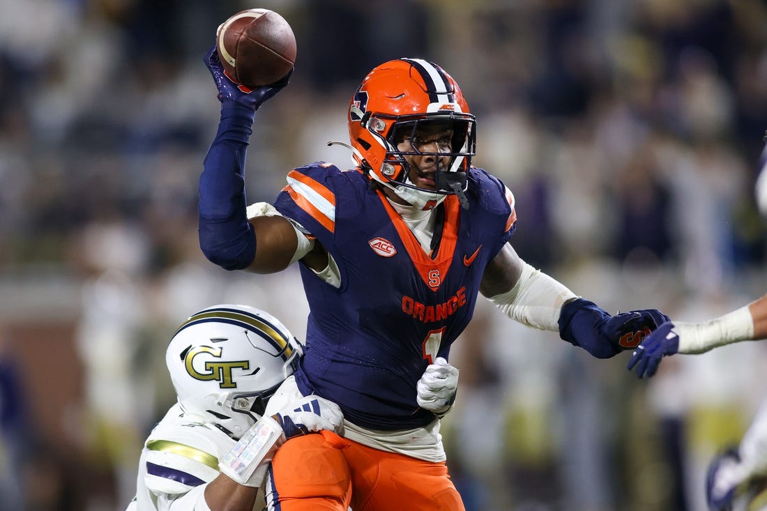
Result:
[[[464,511],[445,463],[416,460],[329,431],[295,437],[272,460],[275,511]]]

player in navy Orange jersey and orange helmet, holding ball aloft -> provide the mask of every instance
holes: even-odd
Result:
[[[299,262],[307,351],[282,391],[318,394],[344,414],[337,442],[308,435],[281,447],[272,509],[464,509],[439,418],[458,382],[450,345],[479,293],[598,358],[667,321],[654,309],[610,315],[519,258],[509,244],[514,196],[472,166],[476,119],[436,64],[402,58],[370,71],[349,106],[350,143],[341,143],[357,166],[291,170],[274,203],[249,207],[255,111],[290,75],[248,92],[223,74],[215,48],[206,64],[221,117],[199,182],[200,246],[229,270]]]

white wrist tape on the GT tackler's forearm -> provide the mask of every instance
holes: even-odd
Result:
[[[281,439],[280,424],[272,417],[261,417],[219,461],[219,470],[243,486],[261,486]]]

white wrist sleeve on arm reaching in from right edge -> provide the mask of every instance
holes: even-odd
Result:
[[[754,319],[749,306],[702,323],[674,321],[679,334],[680,353],[703,353],[732,342],[750,341],[754,337]]]

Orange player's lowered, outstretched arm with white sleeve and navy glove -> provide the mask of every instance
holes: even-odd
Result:
[[[522,261],[507,245],[482,276],[482,295],[509,318],[560,337],[597,358],[610,358],[653,331],[668,317],[656,309],[610,315],[565,285]]]

